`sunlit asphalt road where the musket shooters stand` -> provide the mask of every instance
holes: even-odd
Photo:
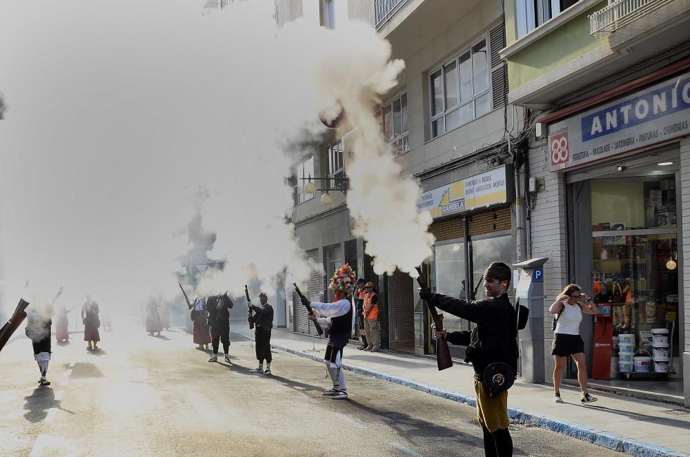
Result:
[[[17,332],[19,333],[21,329]],[[237,335],[209,363],[182,329],[139,324],[53,343],[50,387],[38,387],[29,340],[0,353],[0,454],[8,456],[483,456],[475,410],[346,373],[348,400],[323,364],[274,351],[272,376],[250,373]],[[511,427],[515,456],[620,456],[535,428]]]

